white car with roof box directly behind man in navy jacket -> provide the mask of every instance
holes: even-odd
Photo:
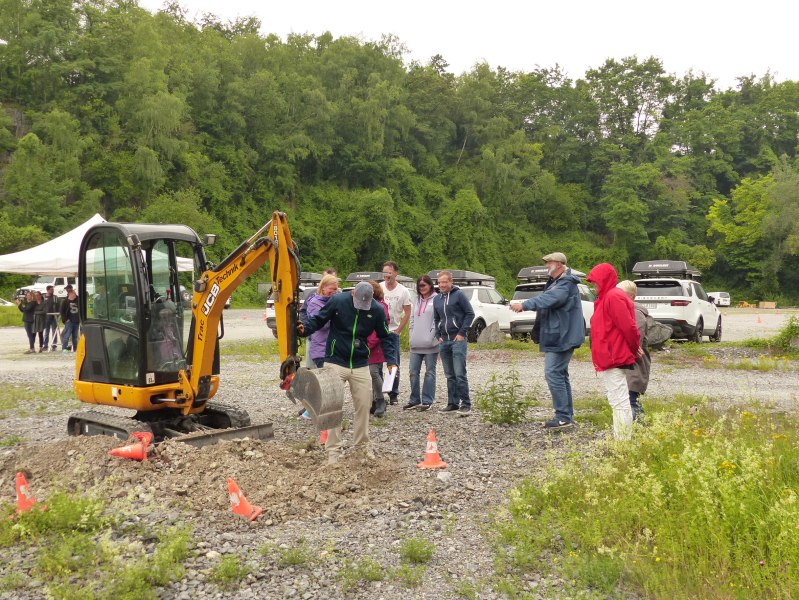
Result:
[[[453,285],[458,286],[466,295],[474,310],[474,320],[467,334],[468,341],[476,342],[483,329],[494,322],[499,323],[501,331],[510,333],[511,321],[517,318],[517,314],[508,306],[508,300],[495,289],[496,280],[493,277],[461,269],[436,269],[428,273],[436,290],[438,274],[443,270],[452,273]]]

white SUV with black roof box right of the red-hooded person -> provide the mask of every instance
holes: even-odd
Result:
[[[639,262],[633,267],[636,302],[660,323],[671,326],[673,338],[721,341],[721,313],[696,281],[701,273],[683,261]]]

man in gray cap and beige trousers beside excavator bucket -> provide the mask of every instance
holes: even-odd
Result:
[[[334,294],[322,309],[297,325],[301,336],[309,336],[330,322],[325,346],[325,368],[334,369],[343,383],[349,383],[355,408],[355,446],[367,458],[374,458],[369,448],[369,408],[372,406],[372,377],[369,374],[369,346],[366,338],[374,331],[380,339],[388,370],[397,368],[397,355],[389,338],[383,307],[374,299],[374,289],[361,281],[351,294]],[[341,427],[328,430],[328,464],[341,457]]]

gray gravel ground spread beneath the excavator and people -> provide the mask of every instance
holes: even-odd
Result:
[[[788,318],[785,311],[725,311],[725,339],[772,335]],[[260,311],[230,311],[227,341],[269,339]],[[0,381],[5,386],[71,389],[74,363],[59,354],[23,355],[21,328],[0,329]],[[732,360],[738,349],[708,344],[720,361]],[[14,476],[24,470],[34,493],[47,498],[56,487],[82,492],[96,488],[123,514],[124,525],[145,525],[158,531],[170,524],[192,527],[195,552],[186,575],[162,590],[164,598],[439,598],[466,587],[479,598],[497,598],[489,580],[494,574],[492,518],[501,510],[508,489],[547,459],[573,444],[590,444],[610,432],[584,424],[568,435],[547,435],[540,423],[551,416],[543,379],[542,355],[509,350],[469,353],[469,379],[476,390],[493,373],[510,365],[521,373],[525,391],[538,399],[534,422],[500,427],[469,417],[438,412],[445,381],[439,367],[436,406],[427,413],[390,407],[387,418],[373,421],[371,436],[378,460],[347,455],[327,467],[311,427],[296,417],[294,405],[277,389],[277,362],[225,361],[217,399],[246,408],[253,423],[272,422],[275,439],[243,440],[197,449],[177,442],[157,448],[147,462],[109,457],[113,438],[68,438],[66,420],[83,406],[75,400],[31,401],[16,411],[2,411],[0,439],[24,438],[21,446],[0,449],[0,500],[14,501]],[[403,357],[407,364],[407,357]],[[656,354],[649,395],[703,394],[711,401],[756,402],[792,410],[797,401],[796,365],[784,371],[709,369],[702,359],[680,351],[680,345]],[[586,360],[573,361],[575,398],[602,395],[603,388]],[[403,383],[407,380],[403,377]],[[407,388],[407,386],[404,386]],[[402,393],[400,405],[406,401]],[[346,411],[345,418],[351,419]],[[0,407],[1,408],[1,407]],[[579,422],[580,415],[577,414]],[[430,429],[449,463],[444,471],[416,468]],[[345,433],[345,443],[349,441]],[[250,523],[231,514],[226,479],[233,477],[250,502],[264,514]],[[422,537],[435,544],[421,585],[408,589],[394,574],[406,538]],[[153,546],[151,536],[131,539],[131,553]],[[265,545],[270,548],[264,550]],[[304,546],[313,560],[283,566],[281,549]],[[209,580],[222,556],[238,555],[251,568],[241,587],[221,590]],[[0,549],[0,576],[28,574],[35,565],[32,547]],[[377,561],[383,581],[361,582],[344,590],[347,566],[364,559]],[[549,575],[546,564],[522,582],[531,597],[576,595]],[[31,587],[0,590],[0,598],[43,598]]]

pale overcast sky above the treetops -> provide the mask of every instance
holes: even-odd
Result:
[[[513,71],[556,63],[573,79],[607,58],[655,56],[668,73],[706,72],[722,88],[771,71],[799,81],[795,0],[180,0],[190,19],[256,16],[262,34],[392,33],[408,59],[441,54],[461,74],[476,62]],[[140,0],[157,10],[163,0]]]

